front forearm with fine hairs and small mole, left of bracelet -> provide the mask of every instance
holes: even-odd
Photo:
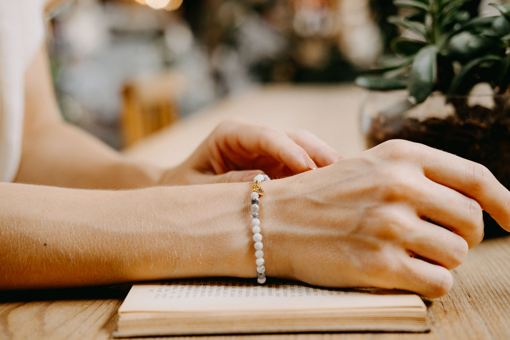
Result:
[[[0,184],[0,289],[254,276],[246,184]]]

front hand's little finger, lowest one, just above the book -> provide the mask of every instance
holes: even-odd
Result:
[[[402,266],[395,274],[394,288],[418,293],[428,298],[445,295],[453,285],[453,277],[448,269],[406,255]]]

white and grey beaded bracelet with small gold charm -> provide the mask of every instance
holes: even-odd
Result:
[[[257,282],[264,284],[266,282],[266,267],[264,266],[264,252],[262,251],[262,234],[260,233],[259,220],[259,197],[264,195],[264,190],[260,187],[260,182],[269,180],[266,174],[259,174],[253,178],[253,186],[251,187],[251,231],[253,231],[253,241],[255,241],[255,257],[257,257]]]

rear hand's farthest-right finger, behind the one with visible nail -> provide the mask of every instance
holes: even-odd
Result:
[[[287,136],[307,151],[319,167],[325,167],[342,159],[337,150],[307,130],[290,131],[287,132]]]

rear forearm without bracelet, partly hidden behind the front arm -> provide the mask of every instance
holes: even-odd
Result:
[[[127,160],[65,122],[27,130],[16,182],[86,189],[130,189],[158,184],[162,170]]]

